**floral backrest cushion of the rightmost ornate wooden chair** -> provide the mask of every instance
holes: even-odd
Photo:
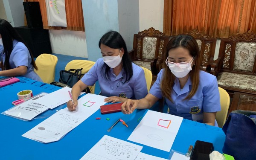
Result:
[[[256,57],[256,43],[239,42],[236,44],[234,70],[253,71]]]

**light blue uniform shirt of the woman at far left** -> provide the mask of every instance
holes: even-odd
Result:
[[[3,53],[3,63],[5,61],[6,55]],[[23,77],[27,77],[29,79],[33,79],[35,81],[42,81],[42,79],[35,73],[34,67],[32,66],[32,59],[29,54],[29,49],[17,40],[13,40],[13,49],[9,58],[9,63],[11,69],[17,68],[19,66],[28,67],[27,73],[22,75]]]

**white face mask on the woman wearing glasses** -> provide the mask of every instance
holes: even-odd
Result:
[[[166,59],[166,65],[169,67],[171,70],[172,74],[176,76],[177,78],[183,78],[189,72],[192,70],[191,64],[194,61],[194,57],[189,61],[189,63],[186,62],[181,62],[181,63],[174,63],[174,62],[169,62],[168,57]]]

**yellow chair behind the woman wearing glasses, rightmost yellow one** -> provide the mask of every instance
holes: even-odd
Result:
[[[226,90],[221,87],[218,88],[221,97],[221,111],[216,113],[216,121],[218,126],[222,128],[227,119],[227,111],[230,105],[230,96]]]

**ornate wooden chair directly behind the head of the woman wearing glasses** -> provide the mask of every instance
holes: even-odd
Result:
[[[216,47],[216,38],[211,38],[211,35],[204,35],[201,32],[199,32],[197,29],[192,29],[189,32],[185,33],[186,35],[191,35],[195,38],[195,40],[198,43],[198,47],[200,49],[201,55],[203,55],[202,61],[201,61],[201,70],[207,71],[208,73],[211,72],[211,68],[207,67],[207,62],[210,60],[212,63],[219,61],[220,58],[217,60],[213,60],[214,53],[215,53],[215,47]],[[156,63],[156,70],[157,73],[160,72],[160,70],[163,68],[162,65],[165,65],[165,59],[159,59]]]

